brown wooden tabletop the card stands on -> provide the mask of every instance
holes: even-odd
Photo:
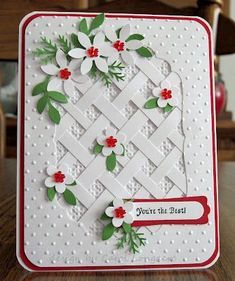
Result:
[[[1,281],[233,281],[235,280],[235,163],[219,164],[221,255],[207,270],[31,273],[15,255],[16,160],[0,160],[0,280]]]

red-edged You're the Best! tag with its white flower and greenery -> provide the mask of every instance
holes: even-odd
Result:
[[[108,221],[102,232],[102,240],[117,236],[117,248],[128,245],[129,251],[135,254],[139,252],[139,247],[146,244],[144,233],[136,231],[135,227],[159,224],[205,224],[208,223],[209,213],[207,198],[203,196],[125,201],[115,198],[100,218]]]

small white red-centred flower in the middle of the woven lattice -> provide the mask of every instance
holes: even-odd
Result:
[[[113,128],[107,128],[105,133],[96,138],[98,144],[102,145],[102,154],[109,156],[114,152],[116,155],[122,155],[124,147],[122,143],[125,141],[125,135],[119,133],[116,135],[116,130]]]

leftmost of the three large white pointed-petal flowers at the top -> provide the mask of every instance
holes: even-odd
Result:
[[[56,90],[63,84],[65,93],[71,96],[74,93],[75,83],[85,83],[88,80],[88,76],[82,75],[80,72],[82,60],[75,59],[68,63],[65,53],[59,49],[56,52],[56,62],[58,66],[55,64],[41,66],[43,72],[54,76],[49,81],[47,90]]]

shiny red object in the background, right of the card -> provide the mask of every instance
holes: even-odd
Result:
[[[226,104],[226,89],[221,74],[215,79],[215,109],[217,117],[223,112]]]

